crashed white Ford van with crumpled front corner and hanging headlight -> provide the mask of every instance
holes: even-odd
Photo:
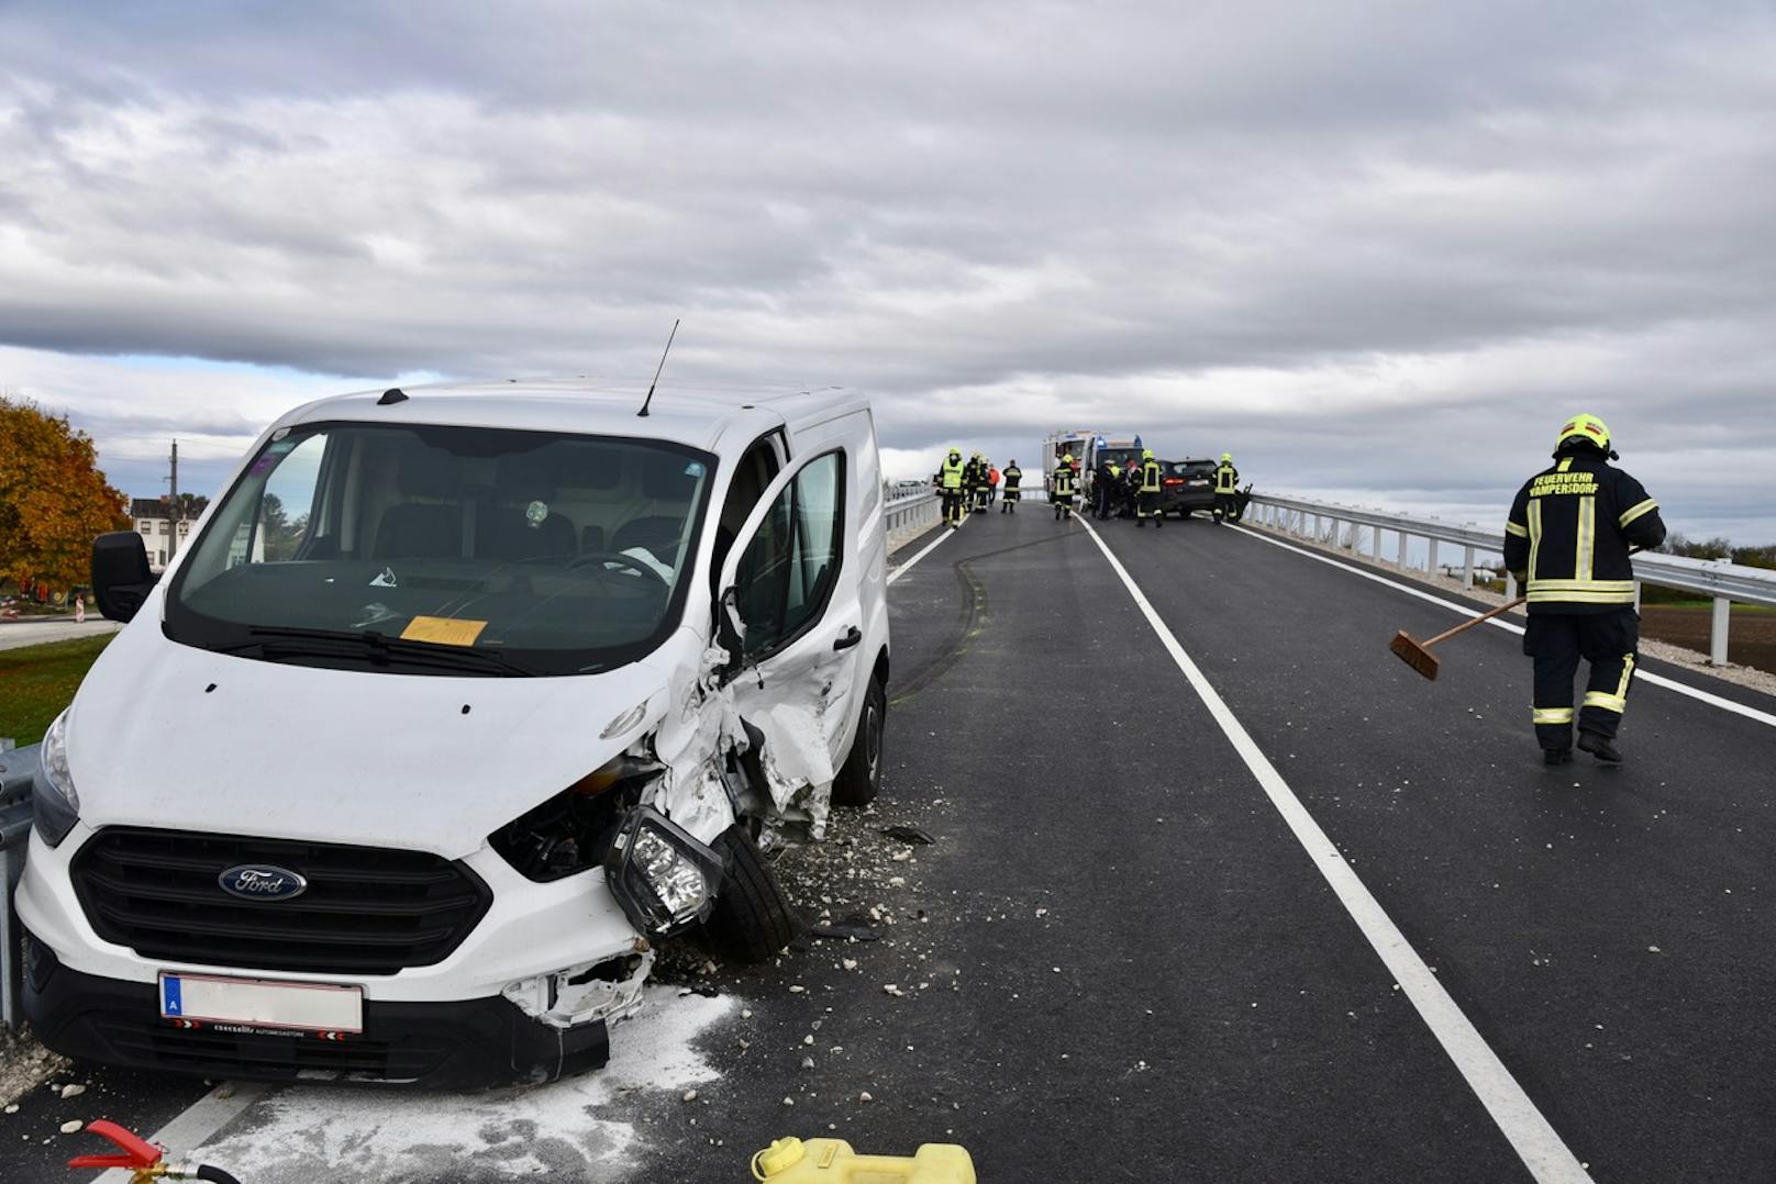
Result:
[[[543,1079],[650,939],[769,957],[760,850],[881,777],[868,403],[499,383],[279,419],[43,744],[18,891],[55,1049],[229,1077]]]

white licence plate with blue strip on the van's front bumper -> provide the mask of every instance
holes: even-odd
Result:
[[[364,989],[162,973],[160,1017],[181,1028],[268,1030],[343,1040],[364,1033]]]

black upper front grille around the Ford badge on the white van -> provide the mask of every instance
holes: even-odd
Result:
[[[291,900],[242,900],[217,879],[243,863],[302,873]],[[105,941],[146,959],[330,975],[432,966],[462,944],[492,893],[421,850],[107,827],[73,864]]]

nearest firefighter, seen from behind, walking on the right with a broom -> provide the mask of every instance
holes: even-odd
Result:
[[[1579,747],[1618,763],[1616,730],[1627,710],[1639,648],[1632,550],[1664,541],[1659,502],[1609,462],[1609,428],[1597,415],[1561,424],[1554,463],[1529,478],[1504,524],[1504,564],[1524,584],[1529,623],[1524,653],[1534,659],[1534,726],[1549,765]],[[1584,659],[1591,675],[1577,717],[1572,680]]]

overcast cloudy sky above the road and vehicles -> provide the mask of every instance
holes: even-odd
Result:
[[[1574,410],[1776,541],[1776,7],[0,0],[0,391],[126,492],[313,394],[868,391],[1502,515]],[[1030,463],[1030,460],[1027,460]]]

